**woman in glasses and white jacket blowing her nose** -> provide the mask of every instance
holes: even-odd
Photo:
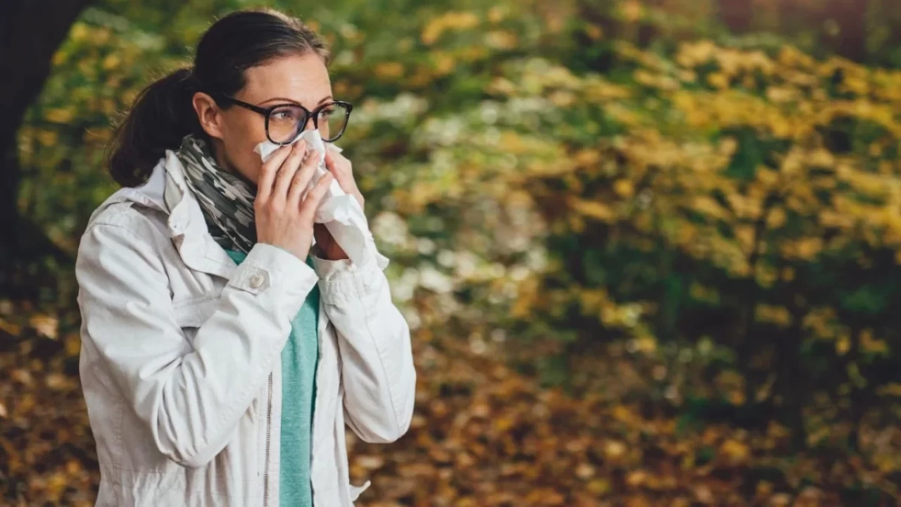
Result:
[[[80,371],[97,505],[352,505],[345,421],[363,440],[409,427],[409,330],[387,259],[347,259],[315,209],[350,161],[291,143],[343,134],[323,41],[275,11],[227,15],[193,69],[145,89],[119,128],[77,258]],[[281,144],[265,163],[254,148]],[[314,245],[314,246],[313,246]],[[346,419],[345,419],[346,418]]]

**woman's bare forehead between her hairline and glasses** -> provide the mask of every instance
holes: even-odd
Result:
[[[286,56],[245,71],[247,84],[237,94],[251,104],[275,97],[312,108],[332,96],[332,82],[323,59],[314,53]]]

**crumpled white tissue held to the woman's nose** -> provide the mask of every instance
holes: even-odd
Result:
[[[328,145],[323,143],[322,135],[318,130],[305,130],[291,143],[296,143],[301,139],[306,141],[307,152],[314,150],[319,153],[319,164],[309,185],[304,190],[305,197],[306,192],[313,189],[316,181],[319,181],[328,172],[325,167],[325,150],[340,153],[341,148],[331,143]],[[278,148],[278,144],[267,140],[257,144],[253,151],[259,153],[259,157],[265,162]],[[363,213],[363,208],[359,206],[356,198],[341,189],[338,180],[332,180],[332,184],[329,185],[329,189],[319,204],[319,209],[316,210],[314,221],[317,224],[324,224],[328,228],[334,240],[341,245],[341,249],[347,253],[352,263],[362,265],[375,254],[375,244],[372,233],[369,232],[369,222]]]

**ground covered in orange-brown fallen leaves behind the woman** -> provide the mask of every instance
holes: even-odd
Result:
[[[99,474],[77,378],[77,312],[0,301],[0,503],[93,505]],[[517,373],[500,344],[416,332],[416,415],[401,441],[350,436],[359,505],[894,505],[901,434],[877,450],[787,453],[776,423],[686,429],[635,401],[642,368],[613,346],[576,395]],[[509,346],[509,345],[508,345]],[[606,386],[604,388],[603,386]]]

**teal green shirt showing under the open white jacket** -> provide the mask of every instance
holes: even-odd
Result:
[[[227,251],[235,263],[247,256]],[[312,260],[307,259],[312,267]],[[291,321],[291,336],[282,349],[281,474],[279,504],[313,507],[310,483],[316,363],[319,358],[319,289],[314,286]]]

